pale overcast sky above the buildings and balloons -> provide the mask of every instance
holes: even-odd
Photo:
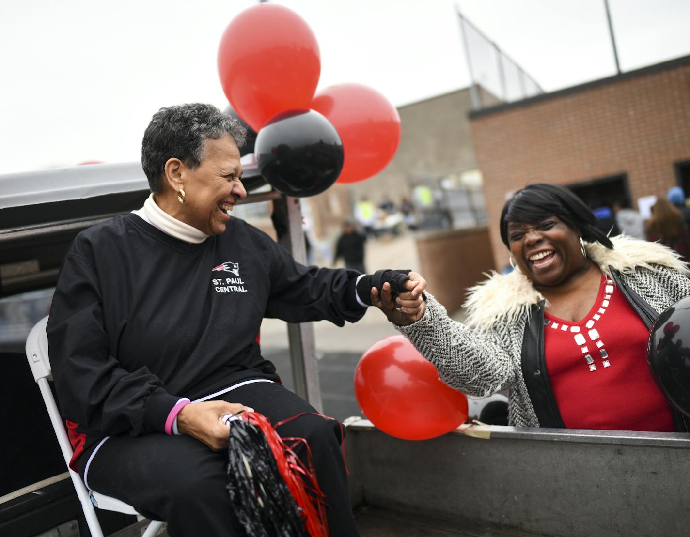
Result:
[[[0,173],[139,160],[161,106],[223,108],[217,45],[248,0],[0,0]],[[402,105],[469,85],[452,0],[281,0],[316,34],[320,87]],[[615,74],[603,0],[459,0],[546,91]],[[690,1],[610,0],[622,70],[690,54]],[[404,128],[404,125],[403,125]]]

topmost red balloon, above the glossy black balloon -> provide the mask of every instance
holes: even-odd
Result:
[[[228,24],[218,74],[233,110],[259,132],[278,112],[309,108],[321,74],[319,45],[297,13],[261,3]]]

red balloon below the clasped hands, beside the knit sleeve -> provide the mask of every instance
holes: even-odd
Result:
[[[426,440],[467,419],[467,398],[446,386],[403,336],[374,343],[355,369],[355,396],[365,416],[391,436]]]

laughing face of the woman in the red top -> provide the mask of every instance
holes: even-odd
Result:
[[[556,216],[536,224],[510,222],[508,241],[520,271],[536,287],[558,286],[586,264],[579,234]]]

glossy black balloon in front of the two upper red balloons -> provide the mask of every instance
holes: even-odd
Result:
[[[278,192],[313,196],[335,183],[343,167],[337,131],[314,110],[288,110],[274,116],[257,135],[259,171]]]

